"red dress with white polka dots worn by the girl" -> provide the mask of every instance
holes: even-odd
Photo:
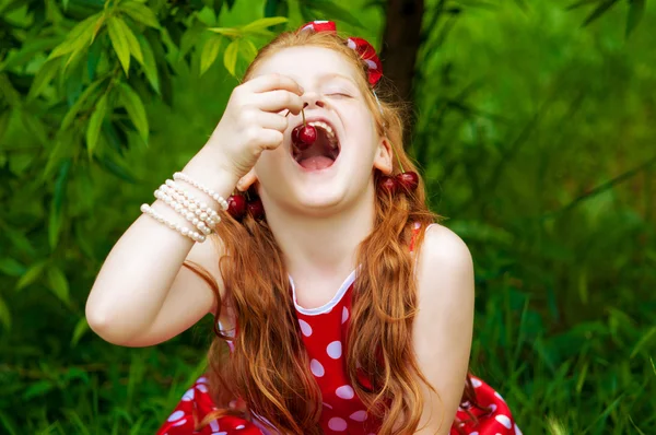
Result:
[[[413,240],[412,240],[413,242]],[[413,243],[410,244],[412,249]],[[309,356],[309,369],[315,376],[323,396],[320,425],[326,434],[376,434],[380,421],[367,413],[364,404],[349,384],[344,361],[344,343],[351,318],[353,282],[358,270],[343,281],[330,302],[317,308],[304,308],[296,301],[296,289],[290,277],[291,293],[296,308],[300,333]],[[229,345],[232,343],[229,341]],[[231,345],[232,351],[232,345]],[[470,377],[477,401],[487,409],[468,407],[461,403],[450,435],[519,435],[522,432],[503,398],[481,379]],[[362,378],[364,385],[366,379]],[[199,432],[195,432],[194,415],[197,421],[214,410],[208,393],[207,378],[200,377],[185,392],[180,402],[157,435],[273,435],[261,422],[266,419],[255,414],[254,421],[235,416],[222,416]],[[472,419],[476,416],[476,419]],[[259,420],[259,421],[258,421]]]

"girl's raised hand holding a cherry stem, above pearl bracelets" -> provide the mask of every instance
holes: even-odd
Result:
[[[237,178],[246,175],[265,150],[274,150],[288,128],[285,115],[303,107],[303,89],[282,74],[260,75],[234,89],[223,117],[206,146]]]

